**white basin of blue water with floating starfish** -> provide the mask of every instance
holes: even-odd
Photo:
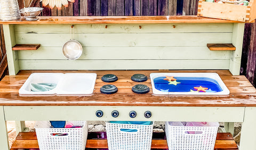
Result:
[[[228,95],[217,73],[150,73],[156,95]]]

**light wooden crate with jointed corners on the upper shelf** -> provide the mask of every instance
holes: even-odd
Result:
[[[199,0],[197,15],[209,18],[252,22],[256,19],[256,0],[251,0],[248,6]]]

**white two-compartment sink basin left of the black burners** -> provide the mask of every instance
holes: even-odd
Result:
[[[36,95],[90,95],[93,93],[96,73],[32,73],[19,89],[19,94]],[[47,91],[32,91],[31,84],[51,83],[57,86]]]

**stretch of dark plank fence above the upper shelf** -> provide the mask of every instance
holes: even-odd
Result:
[[[18,2],[22,9],[23,0]],[[61,10],[51,10],[39,0],[25,0],[26,7],[43,7],[43,16],[196,15],[197,4],[198,0],[75,0]]]

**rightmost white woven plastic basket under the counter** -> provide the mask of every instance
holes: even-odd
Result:
[[[165,122],[165,133],[169,149],[213,150],[219,123],[208,123],[210,127],[186,127],[171,126],[169,122]]]

